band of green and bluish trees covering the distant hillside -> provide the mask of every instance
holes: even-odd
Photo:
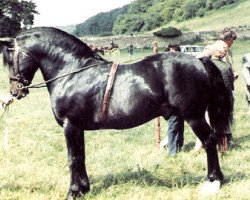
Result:
[[[240,0],[136,0],[131,4],[99,13],[76,26],[75,35],[113,35],[146,32],[170,21],[203,17],[210,10]]]

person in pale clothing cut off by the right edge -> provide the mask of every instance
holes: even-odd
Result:
[[[242,68],[242,74],[243,78],[246,82],[246,100],[248,104],[248,115],[250,115],[250,53],[247,53],[243,56],[243,68]]]

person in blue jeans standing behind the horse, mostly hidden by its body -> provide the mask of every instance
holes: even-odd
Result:
[[[169,44],[165,51],[181,51],[178,44]],[[184,119],[178,115],[172,115],[168,120],[167,137],[160,143],[160,149],[168,146],[169,155],[174,156],[183,147]]]

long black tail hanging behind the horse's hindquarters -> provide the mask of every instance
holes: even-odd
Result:
[[[219,147],[222,152],[227,150],[226,134],[230,132],[233,121],[232,92],[223,81],[220,70],[208,58],[200,59],[205,66],[211,82],[211,94],[208,104],[210,126],[218,137]]]

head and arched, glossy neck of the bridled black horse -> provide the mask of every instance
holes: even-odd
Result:
[[[39,68],[45,80],[55,78],[65,67],[72,71],[84,59],[106,61],[80,39],[59,29],[36,27],[22,31],[16,39],[0,39],[3,60],[9,66],[11,93],[18,99],[28,94]]]

